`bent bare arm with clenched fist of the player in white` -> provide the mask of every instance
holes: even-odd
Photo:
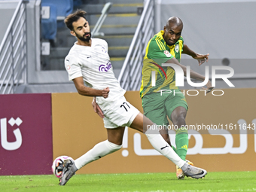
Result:
[[[104,98],[108,97],[109,88],[106,87],[104,90],[95,90],[90,87],[84,86],[84,80],[82,77],[73,79],[75,88],[78,90],[78,93],[82,96],[103,96]]]

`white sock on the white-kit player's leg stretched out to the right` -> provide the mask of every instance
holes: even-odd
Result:
[[[185,161],[182,160],[181,157],[179,157],[178,154],[176,154],[170,145],[163,139],[157,130],[156,124],[153,124],[151,128],[145,132],[145,135],[148,137],[148,140],[151,142],[151,145],[154,147],[154,149],[163,154],[163,156],[167,157],[178,167],[184,165]]]

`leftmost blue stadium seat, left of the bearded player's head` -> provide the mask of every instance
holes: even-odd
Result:
[[[42,38],[53,40],[56,37],[57,32],[57,8],[55,5],[51,4],[41,4],[41,6],[49,6],[50,7],[50,18],[49,19],[41,19],[41,35]]]

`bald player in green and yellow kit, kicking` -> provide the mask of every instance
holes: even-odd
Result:
[[[174,69],[169,66],[162,67],[162,63],[174,63],[181,66],[184,75],[186,75],[186,67],[179,63],[181,53],[186,53],[194,59],[198,59],[199,65],[205,61],[208,62],[209,54],[202,55],[190,50],[184,44],[183,38],[181,37],[182,29],[183,23],[181,19],[170,17],[163,31],[158,32],[148,42],[143,60],[140,95],[146,117],[163,127],[169,125],[167,117],[172,120],[176,132],[176,148],[171,145],[167,129],[162,130],[161,135],[172,146],[178,156],[185,160],[188,148],[185,117],[188,106],[183,93],[175,86]],[[190,70],[190,77],[200,81],[205,80],[203,75],[192,70]],[[206,87],[203,89],[212,90],[211,81],[208,81]],[[178,167],[176,175],[178,179],[184,178],[182,170]]]

